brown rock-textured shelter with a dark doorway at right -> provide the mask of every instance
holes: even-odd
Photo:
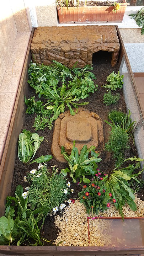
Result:
[[[112,66],[119,54],[115,26],[38,27],[34,31],[31,53],[39,64],[49,65],[57,60],[72,68],[92,64],[92,54],[99,50],[112,52]]]

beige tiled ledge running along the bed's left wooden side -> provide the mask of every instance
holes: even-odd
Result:
[[[0,84],[0,159],[14,108],[30,32],[17,33],[4,78]]]

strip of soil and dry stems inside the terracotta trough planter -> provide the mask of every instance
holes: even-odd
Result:
[[[85,3],[86,2],[86,3]],[[105,6],[105,5],[113,5],[114,2],[123,2],[123,0],[118,0],[118,1],[76,1],[76,5],[74,4],[74,1],[70,0],[69,1],[69,7],[74,7],[74,6]],[[66,6],[65,3],[63,6]]]

